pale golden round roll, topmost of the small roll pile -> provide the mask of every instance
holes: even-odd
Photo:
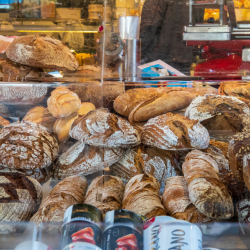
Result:
[[[77,112],[81,108],[81,100],[67,88],[59,87],[51,92],[47,105],[54,117],[61,118]]]

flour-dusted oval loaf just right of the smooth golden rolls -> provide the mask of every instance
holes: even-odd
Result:
[[[137,129],[125,119],[102,108],[76,119],[71,126],[70,136],[99,147],[128,148],[140,144]]]

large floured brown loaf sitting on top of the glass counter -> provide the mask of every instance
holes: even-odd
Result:
[[[74,71],[78,67],[70,49],[47,35],[17,37],[7,48],[6,55],[14,62],[35,68]]]

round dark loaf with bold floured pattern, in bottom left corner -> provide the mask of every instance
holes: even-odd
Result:
[[[17,171],[0,171],[0,234],[19,230],[14,222],[28,221],[42,201],[42,187]]]

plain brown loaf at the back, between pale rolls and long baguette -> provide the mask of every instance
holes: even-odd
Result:
[[[96,108],[113,108],[114,100],[124,93],[123,82],[85,81],[83,84],[70,84],[69,89],[76,93],[82,102],[91,102]]]

